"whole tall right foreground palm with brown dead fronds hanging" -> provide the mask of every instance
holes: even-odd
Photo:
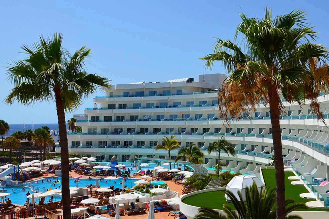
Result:
[[[284,218],[285,187],[284,164],[279,116],[285,100],[302,105],[305,99],[310,108],[323,119],[317,97],[328,90],[328,49],[312,43],[317,37],[308,24],[305,11],[294,10],[272,18],[271,9],[265,16],[247,18],[240,14],[235,38],[242,35],[243,49],[230,40],[217,39],[215,51],[202,59],[211,69],[215,61],[222,61],[229,77],[218,93],[219,114],[228,121],[242,117],[243,112],[255,111],[262,101],[269,105],[274,164],[276,176],[276,211]],[[281,99],[281,97],[284,99]]]

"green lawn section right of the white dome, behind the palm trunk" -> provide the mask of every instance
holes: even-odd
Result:
[[[270,186],[270,188],[275,188],[275,170],[274,169],[263,169],[263,177],[265,180],[265,185]],[[285,196],[286,199],[293,199],[296,203],[306,203],[312,200],[304,199],[299,197],[299,194],[309,192],[304,186],[295,186],[291,184],[289,176],[294,176],[292,172],[285,172]],[[275,205],[272,208],[275,209]],[[307,208],[307,209],[298,209],[299,211],[329,211],[329,209],[316,209],[316,208]]]

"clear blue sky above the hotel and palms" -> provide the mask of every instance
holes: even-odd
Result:
[[[24,58],[22,44],[61,32],[63,45],[74,52],[91,48],[87,67],[113,84],[165,81],[199,74],[226,73],[221,64],[206,70],[198,58],[212,52],[215,40],[233,40],[239,13],[263,17],[304,9],[319,32],[317,43],[329,46],[326,1],[3,1],[1,3],[0,99],[13,87],[6,66]],[[95,94],[96,95],[96,94]],[[93,96],[95,96],[93,95]],[[98,92],[102,95],[102,92]],[[92,107],[92,98],[74,113]],[[73,113],[66,115],[69,119]],[[0,119],[9,123],[57,123],[54,103],[35,106],[0,104]]]

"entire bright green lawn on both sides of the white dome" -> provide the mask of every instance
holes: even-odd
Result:
[[[266,186],[275,188],[275,170],[274,169],[264,169],[263,176],[265,179]],[[304,186],[294,186],[291,185],[291,180],[288,179],[288,176],[294,176],[292,172],[285,172],[285,187],[286,187],[286,198],[291,198],[296,201],[296,203],[306,203],[311,200],[303,199],[299,197],[299,194],[308,192]],[[215,209],[223,209],[223,204],[227,204],[230,207],[234,208],[232,203],[229,203],[225,200],[224,197],[225,191],[214,191],[214,192],[205,192],[197,195],[187,197],[183,200],[185,204],[196,206],[196,207],[209,207]],[[275,209],[275,206],[273,206]],[[327,209],[299,209],[301,211],[329,211]]]

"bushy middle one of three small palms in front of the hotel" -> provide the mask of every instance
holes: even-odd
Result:
[[[198,146],[196,146],[193,142],[190,144],[190,147],[181,148],[177,154],[175,162],[178,160],[188,160],[190,163],[193,164],[202,164],[203,157],[205,155],[200,150]]]

